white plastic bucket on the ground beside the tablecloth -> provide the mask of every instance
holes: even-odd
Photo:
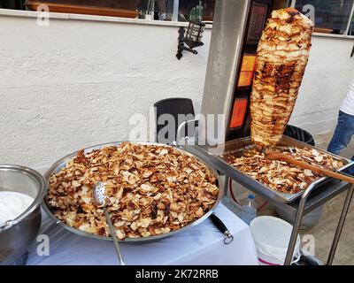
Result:
[[[250,232],[256,244],[261,265],[283,265],[293,226],[270,216],[260,216],[250,222]],[[297,235],[292,264],[300,259],[300,236]]]

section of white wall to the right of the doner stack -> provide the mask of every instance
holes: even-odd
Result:
[[[336,125],[339,105],[354,80],[353,39],[313,36],[312,50],[290,123],[312,134]]]

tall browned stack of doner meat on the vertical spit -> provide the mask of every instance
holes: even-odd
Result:
[[[276,145],[296,103],[311,48],[313,24],[296,9],[272,12],[258,44],[250,97],[251,139]]]

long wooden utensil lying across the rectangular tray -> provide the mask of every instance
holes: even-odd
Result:
[[[328,176],[328,177],[332,177],[338,180],[344,180],[346,182],[349,182],[351,184],[354,184],[354,177],[349,175],[349,174],[345,174],[342,172],[333,172],[331,170],[328,170],[326,168],[323,167],[319,167],[319,166],[315,166],[312,164],[308,164],[307,162],[298,160],[294,157],[291,157],[287,154],[281,153],[281,152],[274,152],[274,151],[269,151],[266,153],[266,158],[269,160],[280,160],[280,161],[285,161],[288,162],[289,164],[294,164],[297,165],[301,168],[304,169],[309,169],[312,172],[317,172],[319,174]]]

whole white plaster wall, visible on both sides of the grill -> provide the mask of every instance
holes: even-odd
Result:
[[[175,57],[178,27],[0,15],[0,164],[44,169],[101,142],[125,140],[136,112],[166,97],[203,96],[211,30],[197,56]],[[335,126],[354,74],[354,41],[313,38],[291,122],[312,134]]]

